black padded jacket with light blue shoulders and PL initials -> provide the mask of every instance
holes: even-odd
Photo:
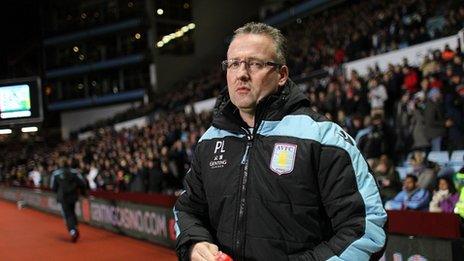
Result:
[[[292,82],[257,106],[250,133],[227,95],[175,207],[177,247],[208,241],[234,260],[368,260],[386,212],[353,139]]]

